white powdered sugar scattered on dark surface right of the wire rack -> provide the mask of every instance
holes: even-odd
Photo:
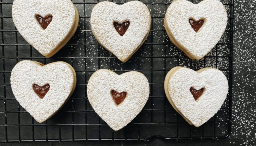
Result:
[[[256,145],[255,0],[234,1],[232,128],[236,146]]]

